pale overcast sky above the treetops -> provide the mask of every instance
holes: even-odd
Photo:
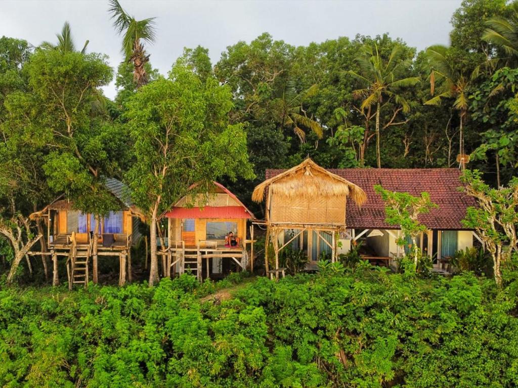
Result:
[[[250,42],[263,32],[295,46],[385,32],[419,50],[448,44],[450,19],[461,4],[461,0],[119,1],[137,19],[156,17],[157,39],[147,51],[153,67],[163,74],[184,47],[208,48],[215,63],[227,46]],[[89,52],[107,54],[117,69],[121,39],[107,9],[107,0],[0,0],[0,35],[34,45],[54,42],[67,20],[78,48],[90,40]],[[115,96],[113,82],[105,93]]]

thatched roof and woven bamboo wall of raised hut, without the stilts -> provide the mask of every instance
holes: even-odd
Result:
[[[298,166],[276,175],[252,193],[261,202],[267,196],[267,221],[345,226],[346,201],[362,205],[365,191],[307,158]]]

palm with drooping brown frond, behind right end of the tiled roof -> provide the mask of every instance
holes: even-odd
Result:
[[[466,77],[462,70],[455,66],[453,58],[448,57],[448,48],[440,44],[426,50],[431,65],[430,93],[435,94],[435,83],[443,82],[439,94],[425,102],[425,105],[440,105],[443,98],[453,98],[453,108],[459,112],[459,154],[464,156],[464,122],[468,114],[468,92],[471,77]],[[464,170],[465,160],[461,157],[461,167]]]

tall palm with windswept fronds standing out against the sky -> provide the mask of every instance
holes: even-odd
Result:
[[[111,18],[115,19],[113,26],[119,34],[124,34],[122,38],[122,53],[125,61],[133,63],[133,80],[138,87],[148,82],[145,65],[149,62],[149,55],[142,41],[149,43],[155,40],[154,18],[136,20],[130,17],[121,7],[118,0],[110,0],[109,12]]]

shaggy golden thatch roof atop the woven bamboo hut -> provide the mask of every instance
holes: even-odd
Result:
[[[362,188],[330,173],[310,158],[257,185],[252,193],[252,200],[262,202],[267,189],[271,190],[272,195],[286,200],[349,197],[358,206],[367,200]]]

